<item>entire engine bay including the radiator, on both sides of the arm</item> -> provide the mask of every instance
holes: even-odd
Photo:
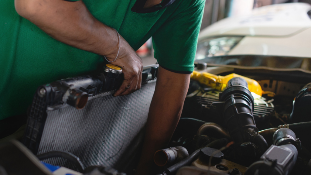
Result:
[[[40,86],[21,142],[0,144],[0,175],[135,174],[157,66],[145,68],[140,94],[126,96],[129,103],[111,97],[122,79],[107,73]],[[303,71],[197,63],[174,134],[154,154],[153,174],[310,174],[310,82]],[[107,112],[120,102],[118,113]],[[130,108],[140,116],[135,121]]]

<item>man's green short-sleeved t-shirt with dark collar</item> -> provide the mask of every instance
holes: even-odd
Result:
[[[176,0],[151,13],[132,12],[136,0],[84,0],[91,14],[115,28],[134,50],[151,36],[158,63],[193,71],[205,0]],[[63,44],[0,0],[0,120],[24,114],[37,87],[94,71],[103,57]]]

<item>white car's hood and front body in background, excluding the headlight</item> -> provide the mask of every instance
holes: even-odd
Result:
[[[311,19],[306,3],[285,3],[256,8],[248,16],[228,17],[203,29],[207,38],[244,36],[227,55],[311,57]]]

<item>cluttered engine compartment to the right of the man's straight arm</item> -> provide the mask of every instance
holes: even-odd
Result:
[[[158,151],[154,159],[157,165],[161,162],[160,174],[311,173],[311,138],[307,134],[311,126],[310,78],[301,81],[293,72],[288,76],[277,71],[209,68],[204,64],[197,65],[196,70],[201,76],[212,72],[222,77],[237,73],[252,78],[260,85],[262,95],[248,91],[250,83],[243,78],[230,79],[220,90],[208,82],[213,78],[197,81],[192,77],[181,119],[167,149],[185,148],[189,156],[168,161],[165,156],[174,154]],[[178,151],[175,155],[180,156]]]

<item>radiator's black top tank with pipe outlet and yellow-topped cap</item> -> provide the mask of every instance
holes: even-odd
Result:
[[[88,97],[117,88],[122,83],[121,73],[120,67],[106,64],[104,73],[62,79],[39,87],[37,94],[41,98],[48,98],[50,106],[68,104],[82,109]]]

